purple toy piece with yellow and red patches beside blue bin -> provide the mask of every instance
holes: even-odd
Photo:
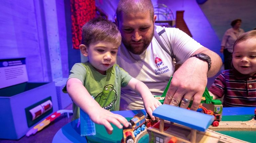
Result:
[[[44,127],[53,122],[56,118],[60,117],[63,113],[73,113],[72,110],[59,110],[48,116],[45,120],[40,122],[39,124],[32,127],[27,133],[26,136],[29,137],[32,134],[36,134],[38,131],[42,130]],[[67,114],[69,118],[69,114]]]

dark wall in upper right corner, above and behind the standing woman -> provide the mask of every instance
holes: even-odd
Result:
[[[232,20],[242,19],[241,28],[244,31],[256,28],[256,1],[254,0],[208,0],[199,5],[208,19],[219,40],[226,29],[231,28]]]

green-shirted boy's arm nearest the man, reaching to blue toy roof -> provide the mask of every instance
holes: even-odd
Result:
[[[152,115],[153,111],[160,105],[162,105],[150,92],[149,88],[141,81],[132,78],[127,87],[135,91],[143,99],[144,108],[151,117],[152,120],[156,120],[155,116]]]

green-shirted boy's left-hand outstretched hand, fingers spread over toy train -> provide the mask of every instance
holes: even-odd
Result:
[[[91,109],[90,113],[88,113],[90,119],[99,125],[104,125],[108,134],[112,134],[113,127],[110,123],[116,125],[118,128],[128,127],[128,121],[121,115],[114,114],[108,110],[103,108]]]

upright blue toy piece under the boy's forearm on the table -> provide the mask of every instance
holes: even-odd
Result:
[[[80,109],[80,130],[81,136],[95,135],[95,123],[91,121],[88,114]]]

